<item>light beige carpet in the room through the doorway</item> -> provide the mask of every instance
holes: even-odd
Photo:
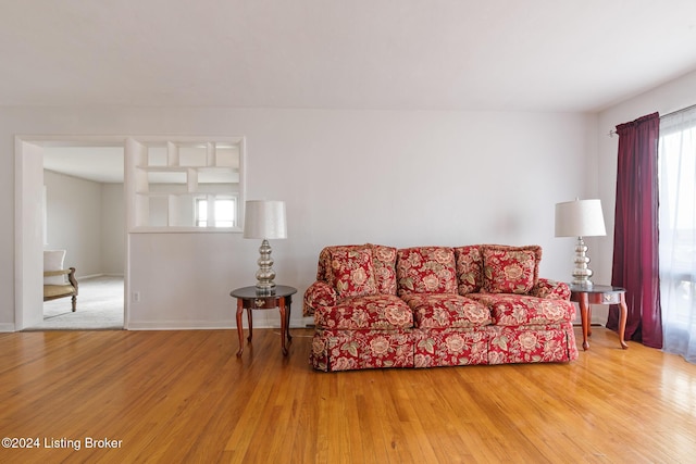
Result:
[[[123,329],[123,277],[100,276],[79,280],[77,311],[70,298],[44,303],[44,322],[28,330]]]

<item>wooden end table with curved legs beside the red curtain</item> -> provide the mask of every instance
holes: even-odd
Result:
[[[592,336],[589,327],[592,309],[591,304],[618,304],[621,310],[619,316],[619,342],[624,350],[629,348],[623,340],[626,329],[626,317],[629,309],[626,308],[626,290],[621,287],[612,287],[607,285],[594,285],[592,287],[570,286],[570,301],[574,301],[580,305],[580,317],[583,323],[583,350],[589,349],[587,337]]]

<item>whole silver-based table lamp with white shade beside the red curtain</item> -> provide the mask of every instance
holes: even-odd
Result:
[[[573,285],[592,287],[592,269],[583,237],[605,236],[605,217],[599,200],[575,200],[556,204],[556,237],[577,237]]]

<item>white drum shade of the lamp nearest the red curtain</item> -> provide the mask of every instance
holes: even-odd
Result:
[[[607,235],[599,200],[575,200],[556,204],[556,237]]]

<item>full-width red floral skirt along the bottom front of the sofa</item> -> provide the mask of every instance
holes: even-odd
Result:
[[[383,367],[562,363],[579,356],[571,323],[398,330],[318,329],[310,364],[335,372]]]

